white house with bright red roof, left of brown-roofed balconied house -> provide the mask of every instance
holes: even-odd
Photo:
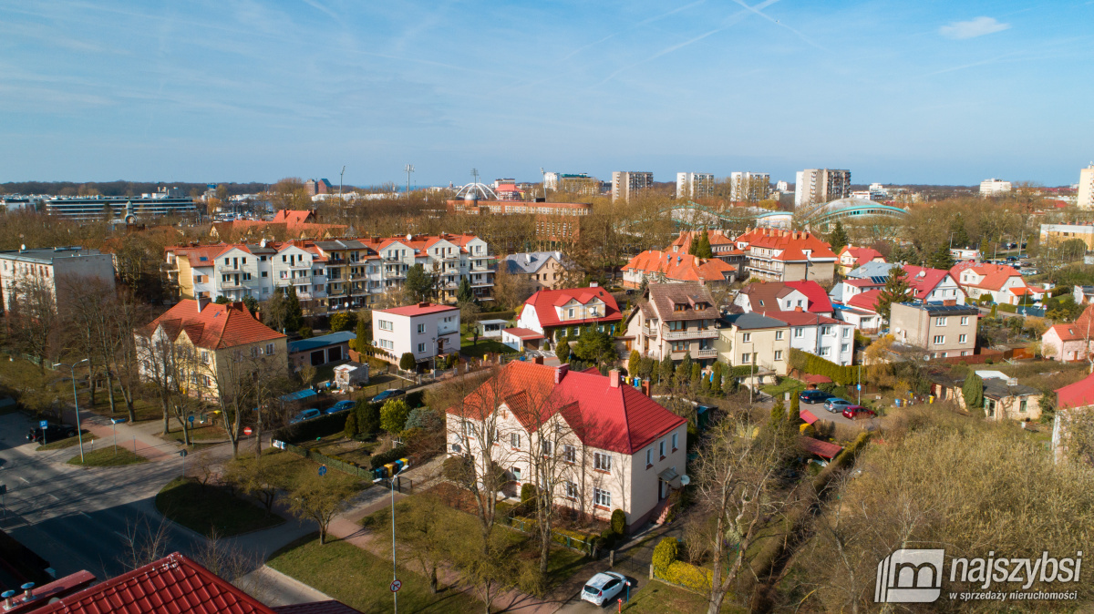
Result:
[[[515,327],[522,330],[520,335],[514,333],[514,336],[536,347],[542,340],[531,339],[527,331],[551,341],[563,334],[571,339],[580,336],[581,329],[586,326],[615,334],[620,320],[622,314],[615,297],[595,284],[589,287],[540,290],[524,302]],[[504,338],[504,332],[502,336]]]

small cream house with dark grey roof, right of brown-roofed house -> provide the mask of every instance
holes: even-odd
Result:
[[[719,321],[718,359],[731,367],[753,365],[756,374],[787,375],[790,328],[763,314],[733,314]]]

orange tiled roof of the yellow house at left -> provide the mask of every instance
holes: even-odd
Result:
[[[151,335],[161,327],[172,342],[185,331],[194,345],[207,350],[284,339],[283,334],[256,320],[243,303],[210,303],[199,312],[197,300],[181,300],[144,327],[144,334]]]

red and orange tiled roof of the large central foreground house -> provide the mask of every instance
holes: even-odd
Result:
[[[447,412],[481,420],[504,403],[529,430],[560,413],[583,444],[624,454],[687,423],[631,386],[568,369],[513,361]]]

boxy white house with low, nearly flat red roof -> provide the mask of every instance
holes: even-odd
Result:
[[[459,307],[419,303],[372,311],[372,344],[381,358],[399,364],[404,354],[416,363],[459,351]]]

